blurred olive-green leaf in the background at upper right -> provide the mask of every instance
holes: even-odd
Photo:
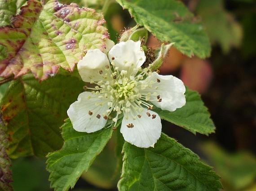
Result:
[[[220,43],[222,50],[227,53],[232,46],[240,45],[242,28],[233,15],[225,11],[223,4],[223,0],[200,0],[197,13],[202,17],[211,42]]]

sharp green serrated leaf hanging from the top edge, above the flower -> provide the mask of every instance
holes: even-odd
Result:
[[[163,42],[175,42],[188,56],[205,58],[211,47],[203,26],[182,2],[177,0],[117,0],[135,21]]]

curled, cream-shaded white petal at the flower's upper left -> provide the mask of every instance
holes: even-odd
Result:
[[[88,50],[84,58],[79,60],[77,69],[83,81],[101,81],[106,65],[109,65],[106,54],[99,49],[93,49]]]

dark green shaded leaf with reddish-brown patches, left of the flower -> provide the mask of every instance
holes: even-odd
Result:
[[[44,157],[60,149],[63,140],[59,127],[83,85],[79,78],[64,75],[41,83],[32,75],[13,81],[0,104],[8,127],[9,156]]]

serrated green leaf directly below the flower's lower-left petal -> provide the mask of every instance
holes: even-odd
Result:
[[[51,187],[55,191],[67,191],[74,187],[83,171],[88,170],[110,140],[112,132],[111,128],[103,128],[93,133],[76,132],[70,119],[67,119],[62,126],[65,140],[62,149],[47,156]]]

